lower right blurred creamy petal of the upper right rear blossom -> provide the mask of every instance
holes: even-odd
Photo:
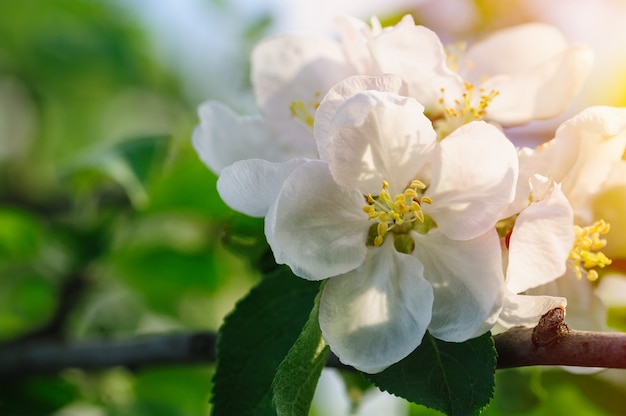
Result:
[[[578,94],[592,64],[591,49],[576,46],[527,71],[493,76],[481,85],[499,93],[485,117],[508,126],[554,117]]]

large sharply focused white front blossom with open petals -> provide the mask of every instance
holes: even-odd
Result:
[[[398,85],[343,81],[317,112],[320,160],[242,161],[218,182],[233,208],[266,213],[278,263],[329,278],[322,334],[344,363],[372,373],[426,330],[461,342],[495,323],[504,276],[494,226],[517,179],[515,149],[497,128],[473,122],[438,142],[423,106],[389,92]]]

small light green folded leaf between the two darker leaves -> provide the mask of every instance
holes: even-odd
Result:
[[[274,376],[274,405],[281,416],[309,414],[315,387],[330,351],[322,338],[318,315],[319,296],[302,333]]]

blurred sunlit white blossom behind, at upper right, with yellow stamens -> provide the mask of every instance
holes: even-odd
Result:
[[[437,120],[441,136],[470,120],[511,126],[556,116],[581,89],[593,61],[590,48],[570,46],[542,23],[493,32],[467,49],[463,42],[444,46],[408,15],[391,28],[372,26],[340,21],[353,65],[400,76]]]

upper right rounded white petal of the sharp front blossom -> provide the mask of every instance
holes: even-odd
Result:
[[[468,240],[484,234],[513,200],[517,152],[496,127],[465,124],[441,141],[423,205],[446,236]]]

